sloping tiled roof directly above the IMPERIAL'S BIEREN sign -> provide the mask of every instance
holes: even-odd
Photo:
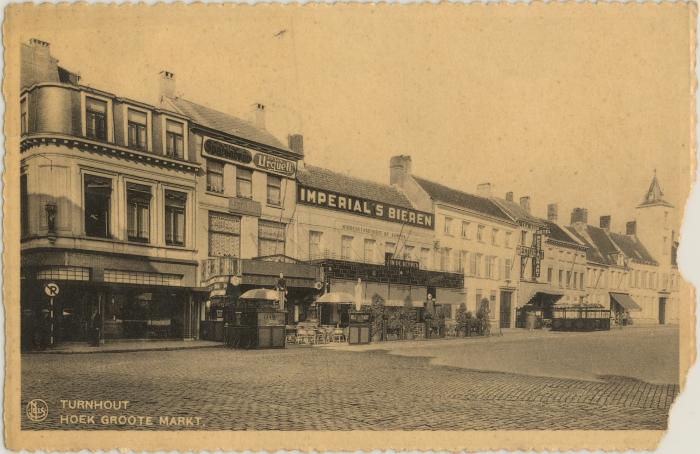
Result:
[[[411,205],[411,202],[403,192],[394,186],[351,177],[309,164],[297,171],[297,180],[305,186],[316,189],[351,195],[402,208],[413,208],[413,205]]]

